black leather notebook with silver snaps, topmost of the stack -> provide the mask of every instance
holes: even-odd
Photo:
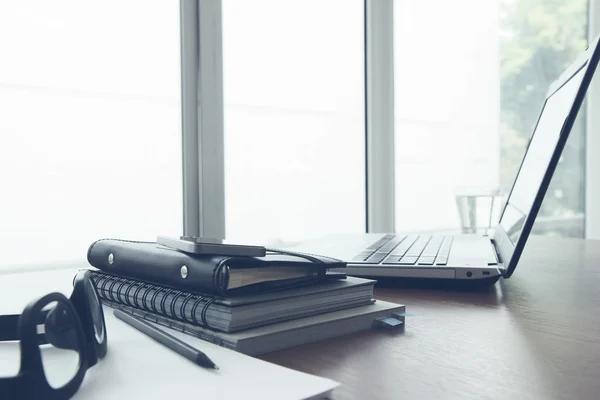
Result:
[[[101,239],[89,247],[90,265],[120,276],[208,295],[285,289],[331,278],[346,263],[323,256],[269,251],[265,257],[185,253],[154,242]],[[343,274],[338,277],[343,278]]]

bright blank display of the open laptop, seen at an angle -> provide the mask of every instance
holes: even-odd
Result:
[[[581,68],[561,88],[547,98],[529,147],[515,179],[513,189],[500,219],[500,225],[513,245],[516,245],[527,215],[540,189],[550,159],[558,144],[585,68]]]

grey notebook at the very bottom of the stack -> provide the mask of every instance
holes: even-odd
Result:
[[[392,314],[405,311],[404,305],[377,300],[372,301],[369,305],[299,318],[236,333],[224,333],[182,323],[132,307],[119,306],[119,308],[148,321],[252,356],[372,329],[380,325],[382,319],[389,319]],[[403,316],[395,315],[393,319],[404,322]]]

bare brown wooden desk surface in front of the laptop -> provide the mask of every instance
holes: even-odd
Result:
[[[378,288],[403,332],[263,356],[341,382],[334,399],[600,399],[600,241],[533,237],[481,292]]]

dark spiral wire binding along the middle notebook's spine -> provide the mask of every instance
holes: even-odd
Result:
[[[212,296],[164,288],[160,285],[118,277],[104,272],[98,273],[92,271],[92,279],[98,288],[100,297],[108,301],[211,329],[207,321],[207,313],[210,305],[215,301],[215,298]],[[130,296],[132,290],[134,290],[133,296]],[[158,299],[159,294],[162,294],[160,300]],[[185,296],[185,298],[181,306],[179,306],[179,313],[181,315],[177,315],[176,302],[182,296]],[[149,300],[148,297],[150,297]],[[133,299],[133,301],[130,299]],[[185,309],[192,299],[194,301],[192,303],[190,320],[186,315]],[[170,301],[170,304],[167,306],[168,301]],[[198,308],[200,306],[202,308],[199,312],[200,320],[198,320]]]

